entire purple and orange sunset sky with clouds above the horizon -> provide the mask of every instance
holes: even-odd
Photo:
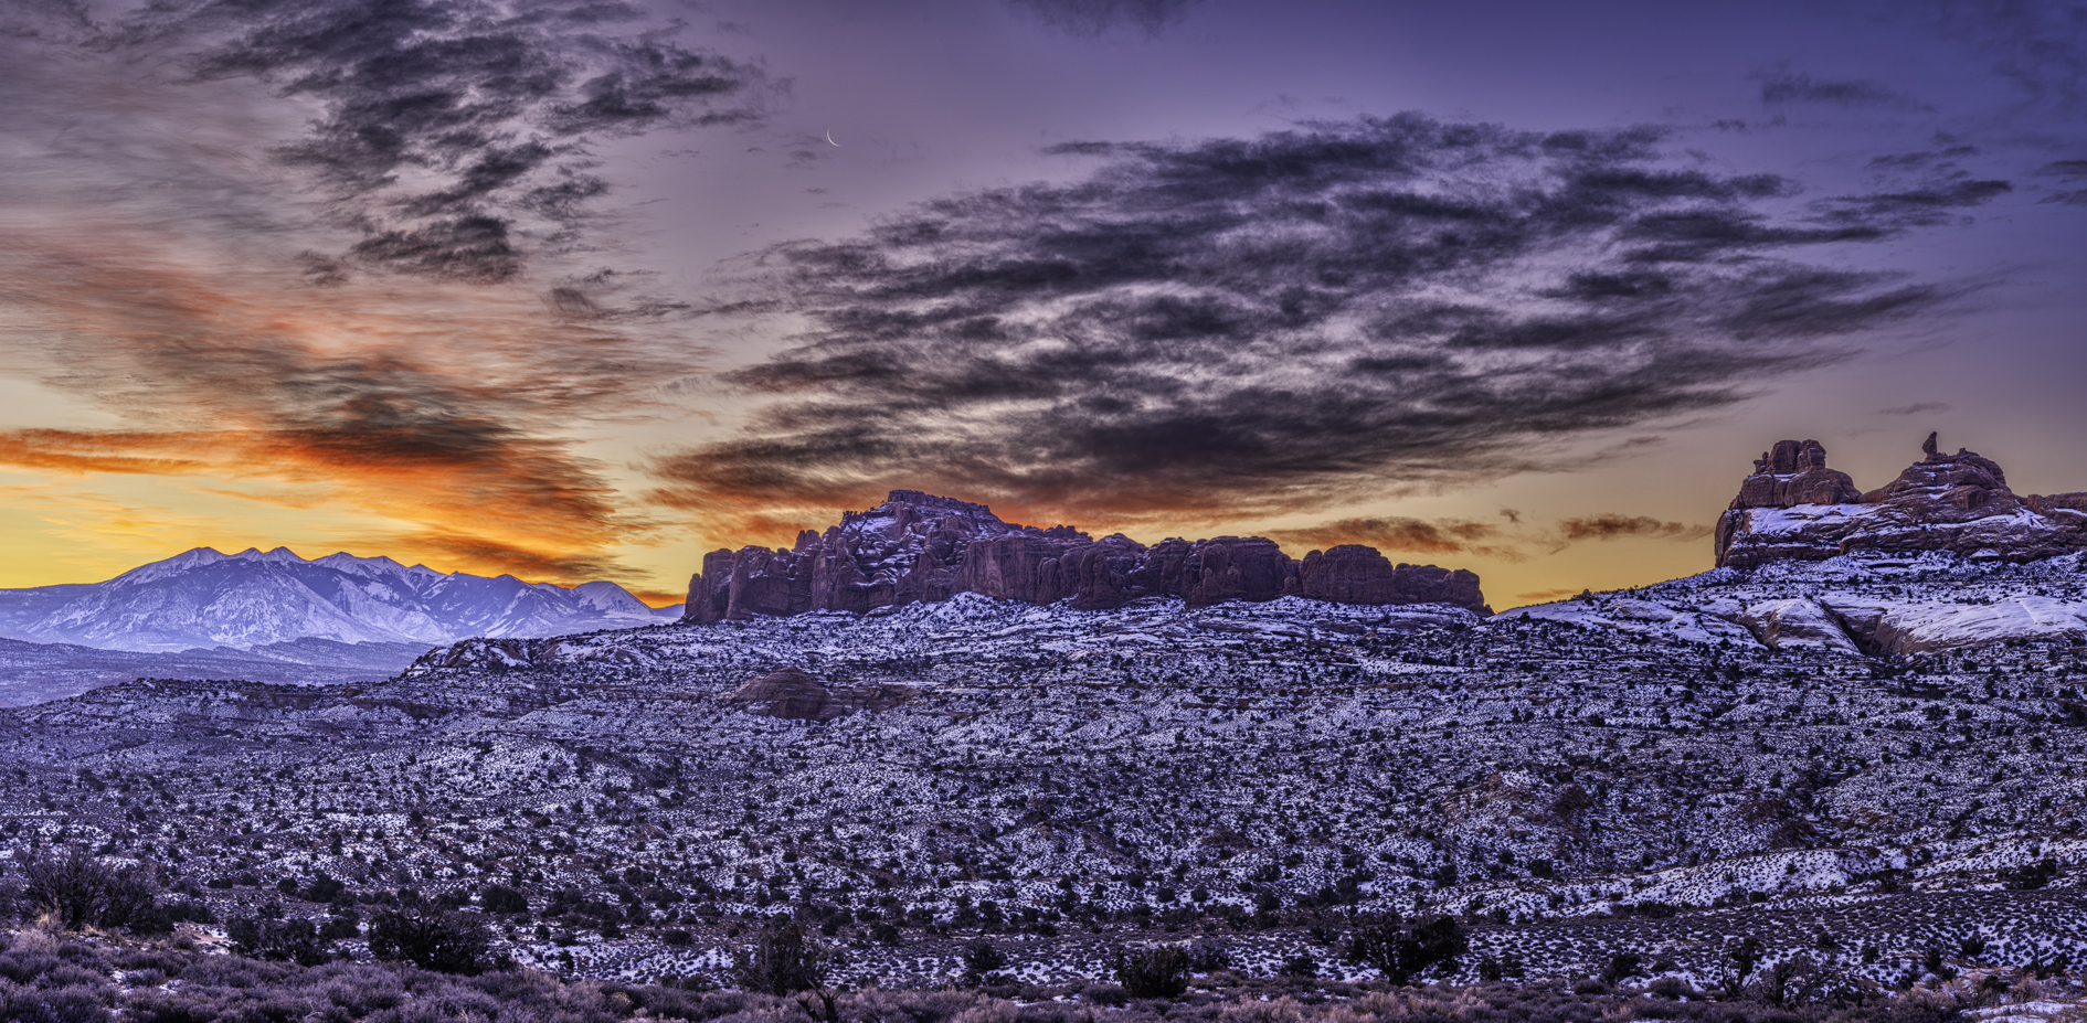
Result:
[[[674,603],[889,489],[1711,566],[1751,459],[2087,489],[2087,2],[10,0],[0,587]]]

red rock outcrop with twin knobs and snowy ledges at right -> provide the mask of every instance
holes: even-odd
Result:
[[[1899,478],[1860,493],[1845,472],[1826,468],[1818,441],[1776,443],[1718,520],[1718,564],[1753,568],[1862,551],[2033,562],[2087,549],[2087,495],[2020,497],[1997,463],[1962,449],[1945,455],[1935,434],[1922,455]]]

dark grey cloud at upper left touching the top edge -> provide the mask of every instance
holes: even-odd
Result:
[[[591,146],[751,123],[760,67],[597,0],[161,0],[102,48],[173,50],[198,79],[250,77],[313,104],[273,148],[361,240],[323,263],[472,282],[574,244],[609,184]]]

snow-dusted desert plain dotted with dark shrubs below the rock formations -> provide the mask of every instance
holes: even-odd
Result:
[[[1388,910],[1471,921],[1465,977],[1638,952],[1713,983],[1743,933],[1880,983],[2087,962],[2087,683],[2045,605],[2079,599],[2070,557],[1843,560],[1490,620],[960,595],[474,639],[376,685],[8,712],[0,846],[154,860],[219,917],[342,912],[275,889],[317,873],[363,912],[499,883],[530,900],[505,948],[622,977],[714,973],[785,910],[918,981],[979,935],[1037,981],[1192,937],[1332,975]],[[781,668],[854,712],[737,699]]]

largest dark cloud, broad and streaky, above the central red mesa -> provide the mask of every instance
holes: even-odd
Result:
[[[766,405],[659,463],[659,497],[925,486],[1125,524],[1496,478],[1935,309],[1945,290],[1832,248],[1991,194],[1807,205],[1676,165],[1653,129],[1417,115],[1056,152],[1100,167],[764,253],[758,299],[810,328],[728,376]]]

